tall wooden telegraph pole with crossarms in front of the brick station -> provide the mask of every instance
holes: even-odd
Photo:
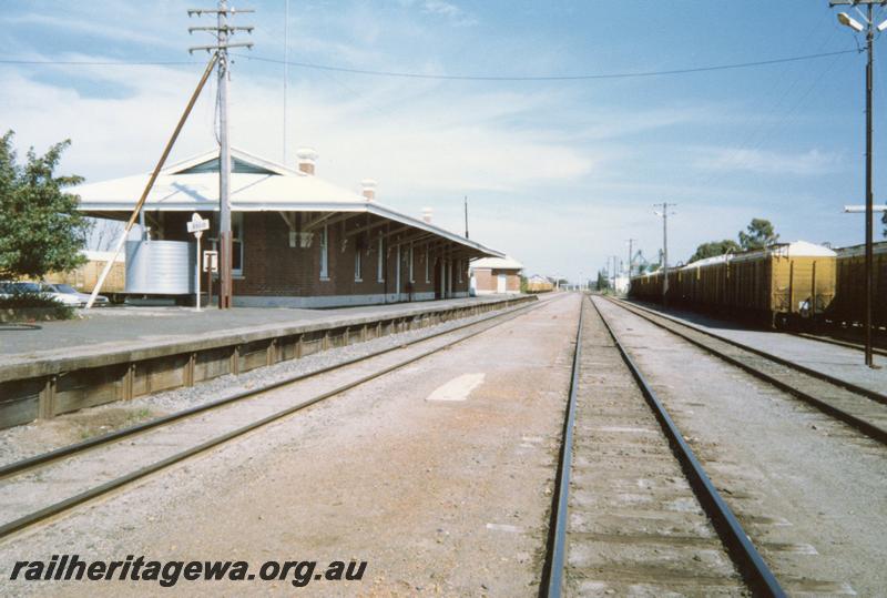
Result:
[[[188,52],[195,50],[206,50],[215,52],[218,57],[218,308],[231,307],[231,296],[233,284],[231,276],[232,268],[232,236],[231,236],[231,144],[228,141],[228,60],[230,48],[253,48],[251,42],[231,43],[230,37],[237,31],[253,32],[253,27],[232,27],[228,24],[228,16],[238,12],[255,12],[251,9],[230,9],[227,0],[218,0],[218,8],[215,9],[190,9],[188,17],[207,14],[216,16],[215,27],[191,27],[188,33],[194,31],[207,31],[216,39],[214,45],[197,45],[190,48]]]

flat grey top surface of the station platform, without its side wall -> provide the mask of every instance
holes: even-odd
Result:
[[[187,342],[214,334],[253,332],[268,325],[337,325],[363,317],[398,317],[416,312],[447,310],[471,304],[502,301],[516,295],[485,295],[442,301],[364,305],[334,310],[284,307],[215,307],[195,312],[193,307],[120,306],[79,310],[82,318],[34,324],[0,324],[0,367],[22,359],[53,355],[92,353],[105,348],[144,347],[154,344]],[[128,346],[124,346],[128,345]]]

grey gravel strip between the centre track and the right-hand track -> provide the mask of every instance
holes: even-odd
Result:
[[[887,448],[599,300],[789,594],[884,596]]]

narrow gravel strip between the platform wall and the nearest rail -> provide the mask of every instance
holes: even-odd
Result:
[[[497,313],[504,314],[516,308],[520,307]],[[154,417],[217,401],[259,385],[316,372],[355,357],[366,356],[385,348],[424,338],[430,334],[478,322],[489,315],[480,314],[453,320],[427,328],[383,336],[345,347],[335,347],[307,355],[300,359],[290,359],[268,367],[252,369],[239,376],[220,376],[192,387],[181,387],[145,395],[128,402],[109,403],[61,415],[52,419],[35,420],[31,424],[2,429],[0,430],[0,464],[12,463]]]

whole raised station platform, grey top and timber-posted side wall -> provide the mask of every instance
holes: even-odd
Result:
[[[81,320],[3,325],[0,428],[528,301],[536,296],[335,310],[108,307]]]

